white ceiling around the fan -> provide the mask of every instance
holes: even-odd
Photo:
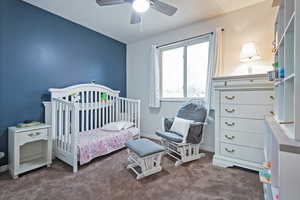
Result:
[[[99,7],[96,0],[23,1],[119,41],[130,43],[265,0],[162,0],[176,6],[177,13],[168,17],[150,9],[143,15],[141,26],[129,23],[132,10],[129,4]]]

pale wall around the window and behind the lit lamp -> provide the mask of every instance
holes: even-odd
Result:
[[[257,44],[262,59],[255,63],[254,72],[263,73],[272,64],[273,24],[276,9],[269,1],[244,8],[227,15],[202,21],[178,30],[163,33],[147,40],[127,45],[127,95],[141,99],[141,131],[153,137],[161,128],[162,117],[173,117],[182,102],[162,102],[160,109],[148,108],[149,65],[152,44],[166,44],[212,32],[222,27],[224,32],[224,69],[222,75],[245,74],[247,66],[239,61],[243,43]],[[213,149],[214,129],[211,123],[205,131],[207,149]]]

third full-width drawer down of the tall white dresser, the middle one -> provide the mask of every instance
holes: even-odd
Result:
[[[265,133],[266,124],[264,120],[239,119],[239,118],[221,118],[221,129],[229,131],[241,131],[252,133]]]

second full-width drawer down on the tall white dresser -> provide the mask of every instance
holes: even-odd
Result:
[[[222,117],[264,119],[273,113],[272,105],[221,105]]]

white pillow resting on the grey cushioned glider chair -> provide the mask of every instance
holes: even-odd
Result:
[[[175,117],[172,127],[170,129],[171,132],[175,132],[183,137],[183,143],[186,142],[186,138],[189,133],[190,124],[192,120],[186,120],[179,117]]]

